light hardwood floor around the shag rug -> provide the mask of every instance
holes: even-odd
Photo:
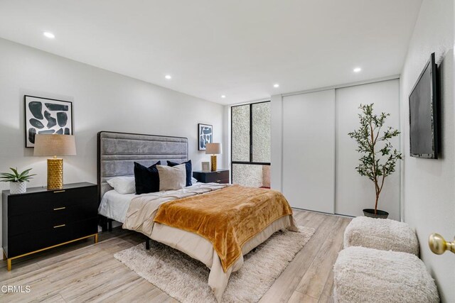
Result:
[[[316,229],[282,275],[264,294],[265,302],[331,302],[332,267],[350,219],[294,210],[297,224]],[[0,302],[176,302],[129,270],[113,255],[144,241],[121,228],[92,240],[68,244],[0,266],[1,285],[29,285],[29,293],[0,292]]]

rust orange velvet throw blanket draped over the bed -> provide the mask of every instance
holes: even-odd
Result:
[[[281,192],[232,185],[164,203],[154,221],[208,239],[226,271],[240,257],[245,242],[273,221],[291,214]]]

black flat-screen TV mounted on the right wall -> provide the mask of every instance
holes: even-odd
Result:
[[[437,65],[432,53],[410,94],[410,154],[438,158]]]

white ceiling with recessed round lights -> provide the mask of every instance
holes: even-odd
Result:
[[[400,74],[421,3],[1,0],[0,37],[234,104]]]

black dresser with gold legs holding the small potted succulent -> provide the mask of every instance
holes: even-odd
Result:
[[[2,195],[4,260],[11,260],[82,238],[98,241],[97,185],[65,184],[62,189],[31,187]]]

